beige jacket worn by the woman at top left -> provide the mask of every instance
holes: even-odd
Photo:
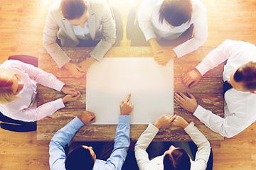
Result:
[[[87,10],[90,36],[92,40],[100,40],[103,34],[102,40],[90,52],[90,55],[100,62],[114,44],[116,38],[115,23],[110,7],[105,0],[90,0],[89,2]],[[43,30],[43,46],[53,57],[58,67],[63,67],[70,62],[70,58],[56,43],[57,35],[64,47],[75,47],[79,44],[72,25],[60,13],[60,1],[55,1],[49,8],[46,27]]]

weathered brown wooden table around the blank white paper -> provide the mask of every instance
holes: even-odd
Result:
[[[223,64],[205,74],[201,81],[192,89],[183,85],[182,75],[196,67],[214,47],[200,47],[196,52],[191,52],[180,59],[174,60],[174,92],[181,91],[191,92],[203,106],[213,113],[224,116],[223,111]],[[72,62],[81,62],[85,56],[92,50],[92,47],[63,47],[66,54],[72,59]],[[106,57],[153,57],[151,47],[112,47],[107,52]],[[75,116],[85,111],[85,92],[86,77],[80,79],[73,78],[65,69],[58,69],[57,64],[46,50],[41,47],[38,49],[38,67],[51,72],[65,84],[79,87],[81,96],[78,101],[66,104],[66,107],[47,118],[38,121],[37,139],[50,140],[55,132],[63,128]],[[38,85],[38,106],[48,101],[61,98],[65,94],[49,89],[45,86]],[[197,128],[203,132],[208,140],[224,140],[224,137],[208,129],[200,120],[188,111],[178,106],[174,102],[174,114],[181,115],[188,123],[193,121]],[[84,125],[73,138],[73,141],[112,141],[116,132],[117,125]],[[144,132],[147,125],[131,125],[130,137],[136,141]],[[190,141],[191,138],[182,128],[170,127],[159,130],[154,141]]]

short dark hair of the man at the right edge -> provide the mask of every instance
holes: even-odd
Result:
[[[242,82],[248,91],[256,91],[256,62],[243,64],[234,74],[236,82]]]

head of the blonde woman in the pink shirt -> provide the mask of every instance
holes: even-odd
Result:
[[[23,89],[21,75],[9,69],[0,68],[0,103],[10,103]]]

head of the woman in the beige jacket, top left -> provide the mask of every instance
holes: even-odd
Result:
[[[60,11],[71,25],[85,27],[85,22],[89,18],[85,0],[62,0]]]

